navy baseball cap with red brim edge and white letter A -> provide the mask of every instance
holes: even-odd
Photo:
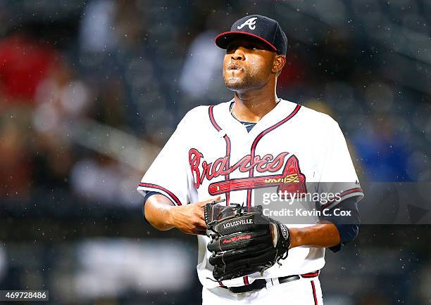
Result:
[[[278,54],[287,53],[287,37],[277,21],[262,16],[249,15],[237,20],[229,32],[218,34],[214,41],[220,48],[227,48],[237,37],[254,37],[268,44]]]

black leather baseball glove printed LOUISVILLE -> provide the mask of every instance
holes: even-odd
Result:
[[[261,274],[287,257],[289,231],[282,223],[263,215],[262,206],[205,205],[206,235],[211,238],[209,262],[215,280],[231,280]]]

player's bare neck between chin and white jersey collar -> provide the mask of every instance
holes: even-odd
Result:
[[[235,92],[235,105],[232,108],[232,114],[240,121],[256,123],[273,110],[276,105],[275,91]]]

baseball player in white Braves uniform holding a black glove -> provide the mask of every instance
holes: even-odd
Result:
[[[287,52],[277,21],[246,16],[215,37],[215,44],[226,50],[223,78],[234,98],[194,108],[178,124],[137,188],[145,196],[146,221],[158,230],[197,235],[203,304],[323,304],[318,275],[325,248],[336,252],[356,238],[357,202],[363,197],[342,131],[329,116],[277,97]],[[212,239],[206,235],[204,207],[214,200],[224,200],[218,205],[225,207],[261,205],[256,190],[273,188],[277,181],[303,191],[305,181],[347,184],[332,190],[339,196],[330,205],[349,210],[352,224],[339,223],[335,216],[308,225],[263,217],[282,232],[277,247],[282,245],[284,254],[276,257],[281,264],[267,264],[261,272],[239,268],[235,274],[242,276],[224,276],[235,268],[235,259],[226,264],[222,255],[217,263],[214,255],[224,252],[208,251]],[[236,234],[229,241],[238,240]],[[217,264],[223,264],[218,268],[223,274],[215,274]]]

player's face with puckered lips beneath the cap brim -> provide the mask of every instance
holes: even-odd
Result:
[[[261,88],[268,83],[276,53],[257,39],[235,39],[223,60],[225,86],[232,91]]]

